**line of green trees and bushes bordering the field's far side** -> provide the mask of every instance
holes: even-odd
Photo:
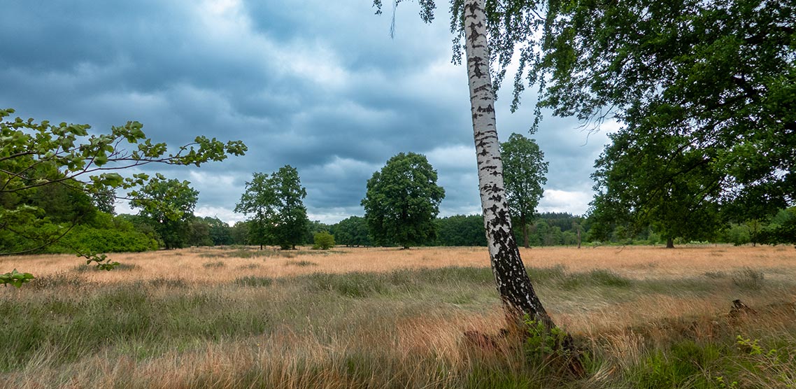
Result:
[[[601,203],[606,196],[598,195],[585,216],[537,213],[548,166],[544,153],[533,139],[520,134],[512,134],[503,142],[501,153],[513,235],[525,247],[674,241],[777,244],[792,242],[796,235],[796,208],[779,209],[767,218],[741,220],[722,219],[716,209],[704,206],[700,212],[710,217],[691,214],[680,219],[672,216],[674,221],[651,218],[652,222],[638,224],[609,212]],[[597,163],[608,160],[612,159],[604,154]],[[365,216],[350,216],[336,224],[307,218],[303,204],[306,189],[291,165],[273,173],[253,173],[235,208],[248,220],[232,226],[217,217],[194,216],[199,193],[188,181],[167,179],[159,173],[147,177],[127,195],[131,207],[139,213],[115,215],[118,196],[113,185],[97,185],[92,190],[89,187],[95,181],[84,183],[59,175],[54,164],[33,168],[38,169],[38,180],[54,179],[50,178],[48,185],[22,185],[20,189],[11,187],[18,185],[14,181],[6,181],[0,206],[4,216],[12,217],[4,219],[0,228],[2,252],[28,252],[53,236],[57,236],[53,244],[37,252],[100,253],[220,245],[283,249],[297,245],[328,248],[335,244],[486,246],[481,215],[438,217],[444,189],[436,185],[436,171],[422,154],[400,153],[390,158],[367,182],[362,200]],[[607,174],[600,172],[595,176]],[[24,216],[24,210],[35,212]],[[679,231],[679,235],[672,231]]]

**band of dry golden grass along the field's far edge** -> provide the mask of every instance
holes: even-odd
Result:
[[[228,256],[221,248],[188,248],[173,251],[113,254],[119,263],[135,266],[125,272],[89,273],[92,282],[122,282],[135,278],[181,278],[187,282],[228,282],[241,274],[282,278],[298,274],[353,271],[388,272],[396,269],[439,268],[447,266],[487,267],[489,254],[482,247],[344,248],[334,251],[264,251],[254,247],[252,256]],[[238,251],[235,251],[238,252]],[[283,256],[287,254],[288,256]],[[791,247],[696,246],[668,250],[662,247],[535,247],[522,249],[529,267],[564,266],[583,272],[611,269],[627,278],[689,278],[706,273],[730,274],[751,267],[764,270],[771,279],[796,278],[796,250]],[[306,262],[302,262],[306,261]],[[224,266],[205,266],[224,263]],[[295,266],[297,263],[311,266]],[[0,267],[24,270],[40,276],[74,270],[80,259],[72,255],[27,255],[0,258]],[[257,266],[252,266],[257,265]],[[231,271],[230,269],[236,269]]]

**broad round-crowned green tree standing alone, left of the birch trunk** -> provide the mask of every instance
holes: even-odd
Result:
[[[435,237],[434,219],[445,189],[426,157],[400,153],[368,180],[362,206],[375,243],[398,243],[404,248]]]

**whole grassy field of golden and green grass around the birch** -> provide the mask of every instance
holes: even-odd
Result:
[[[587,377],[497,334],[486,249],[0,258],[0,387],[796,387],[794,247],[522,251]],[[730,313],[732,301],[751,307]]]

